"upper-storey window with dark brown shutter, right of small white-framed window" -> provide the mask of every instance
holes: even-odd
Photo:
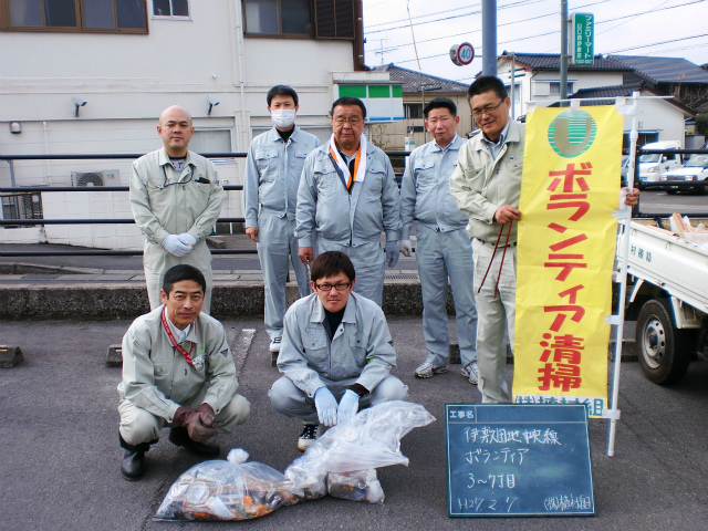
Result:
[[[247,35],[354,39],[357,0],[243,0]]]

